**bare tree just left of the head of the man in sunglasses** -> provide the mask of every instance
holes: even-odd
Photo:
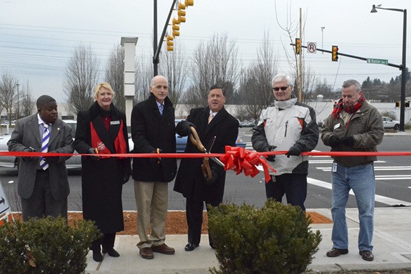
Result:
[[[257,50],[257,62],[251,64],[240,79],[240,101],[245,103],[245,110],[255,120],[264,108],[273,103],[271,80],[277,74],[277,58],[273,52],[269,32],[264,32],[262,44]]]

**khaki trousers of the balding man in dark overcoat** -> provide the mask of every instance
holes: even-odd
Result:
[[[134,180],[134,195],[136,196],[137,229],[140,238],[137,247],[142,249],[164,244],[169,185],[164,182]]]

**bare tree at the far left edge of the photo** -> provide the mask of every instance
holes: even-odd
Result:
[[[10,73],[2,73],[0,79],[1,105],[8,114],[9,124],[12,122],[12,112],[16,109],[18,80]]]

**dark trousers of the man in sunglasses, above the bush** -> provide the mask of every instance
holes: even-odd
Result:
[[[275,177],[275,182],[270,180],[265,184],[267,199],[273,198],[282,203],[284,194],[287,203],[292,206],[299,206],[306,211],[304,202],[307,197],[307,175],[306,174],[282,174]]]

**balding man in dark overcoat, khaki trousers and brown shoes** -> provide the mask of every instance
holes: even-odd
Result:
[[[153,77],[149,99],[134,106],[132,139],[134,153],[175,153],[175,116],[168,95],[168,82],[161,75]],[[172,255],[165,244],[168,210],[168,182],[177,173],[175,158],[134,158],[133,179],[140,256],[153,259],[153,252]],[[149,233],[149,226],[151,232]]]

